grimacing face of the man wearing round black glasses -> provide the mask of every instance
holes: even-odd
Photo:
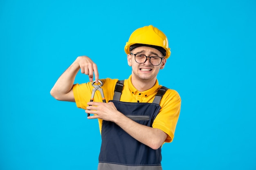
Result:
[[[159,56],[164,57],[160,51],[157,49],[148,47],[148,46],[140,46],[131,51],[133,54],[144,54],[148,57],[151,56]],[[128,65],[132,67],[132,77],[139,81],[149,82],[155,81],[157,74],[160,69],[163,69],[166,63],[166,58],[164,58],[158,66],[153,66],[149,62],[149,58],[147,58],[146,62],[143,64],[139,64],[135,61],[135,56],[132,54],[127,55]]]

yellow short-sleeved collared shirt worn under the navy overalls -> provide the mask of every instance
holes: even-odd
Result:
[[[106,102],[113,99],[115,85],[118,79],[101,79],[103,82],[103,93]],[[121,102],[141,102],[141,103],[152,103],[153,99],[159,88],[162,86],[158,84],[156,80],[155,85],[146,91],[137,91],[132,85],[131,76],[124,80],[124,88],[121,95]],[[92,83],[74,84],[73,93],[78,108],[86,109],[87,103],[90,102],[92,95]],[[99,91],[96,91],[94,95],[94,102],[102,102],[102,98]],[[160,104],[161,109],[157,117],[153,122],[153,128],[158,128],[164,131],[168,137],[165,142],[171,142],[174,137],[176,124],[180,115],[181,99],[180,95],[172,89],[168,89],[162,97]],[[99,119],[99,128],[101,132],[102,120]]]

